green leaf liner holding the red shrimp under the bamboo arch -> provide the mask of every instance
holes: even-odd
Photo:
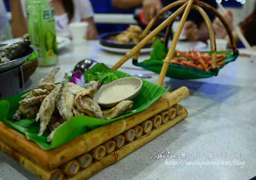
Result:
[[[167,55],[168,49],[159,40],[156,40],[152,45],[152,47],[153,47],[153,50],[150,54],[151,56],[150,59],[144,60],[143,62],[139,63],[138,60],[133,58],[133,65],[139,66],[144,69],[151,70],[153,72],[160,74],[162,65],[163,65],[162,60]],[[209,55],[211,55],[211,52],[208,52],[208,51],[204,53],[208,53]],[[218,67],[216,72],[211,72],[209,70],[204,71],[201,69],[197,69],[195,67],[169,64],[169,67],[167,69],[165,76],[169,78],[179,79],[179,80],[210,78],[211,76],[214,76],[214,75],[217,76],[221,68],[223,68],[226,64],[232,61],[235,61],[239,56],[239,53],[237,53],[236,55],[233,55],[233,52],[231,50],[217,52],[217,54],[226,54],[227,58],[221,61],[221,62],[224,62],[224,64]]]

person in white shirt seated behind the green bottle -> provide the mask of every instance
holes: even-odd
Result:
[[[98,38],[93,20],[93,9],[89,0],[53,0],[53,6],[57,34],[70,35],[69,23],[88,22],[88,39]],[[25,7],[25,0],[10,0],[14,37],[21,37],[28,33]]]

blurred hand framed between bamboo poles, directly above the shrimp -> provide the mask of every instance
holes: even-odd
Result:
[[[183,29],[184,29],[183,35],[186,36],[187,39],[192,40],[192,41],[199,40],[199,38],[200,38],[199,29],[195,22],[193,22],[191,20],[186,21]]]

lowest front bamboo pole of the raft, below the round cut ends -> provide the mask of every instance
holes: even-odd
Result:
[[[119,150],[110,153],[108,156],[104,157],[101,161],[96,161],[92,163],[87,169],[79,171],[75,176],[69,178],[69,180],[77,180],[77,179],[86,179],[93,174],[97,173],[101,169],[114,164],[116,161],[122,159],[124,156],[128,155],[132,151],[138,149],[139,147],[143,146],[147,142],[150,142],[152,139],[156,138],[163,132],[167,131],[170,127],[174,126],[181,120],[187,117],[187,111],[184,108],[182,114],[180,116],[175,117],[172,121],[168,121],[165,124],[160,125],[155,130],[151,131],[150,133],[146,134],[145,136],[141,136],[140,138],[125,144]]]

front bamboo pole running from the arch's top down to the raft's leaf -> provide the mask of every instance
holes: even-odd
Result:
[[[161,69],[161,72],[159,74],[159,78],[158,78],[158,81],[157,81],[157,84],[160,85],[160,86],[163,85],[163,81],[164,81],[167,69],[169,67],[170,60],[173,59],[175,47],[177,45],[177,42],[179,40],[181,31],[182,31],[182,29],[184,27],[185,21],[187,19],[187,16],[188,16],[188,13],[189,13],[189,11],[191,9],[191,6],[193,5],[193,2],[194,2],[194,0],[188,0],[188,3],[185,4],[186,5],[186,9],[185,9],[185,11],[184,11],[184,13],[183,13],[183,15],[181,17],[180,24],[178,25],[178,29],[177,29],[177,31],[176,31],[176,33],[174,35],[174,39],[172,41],[172,44],[170,45],[170,48],[169,48],[168,53],[167,53],[167,56],[163,60],[163,66],[162,66],[162,69]]]

